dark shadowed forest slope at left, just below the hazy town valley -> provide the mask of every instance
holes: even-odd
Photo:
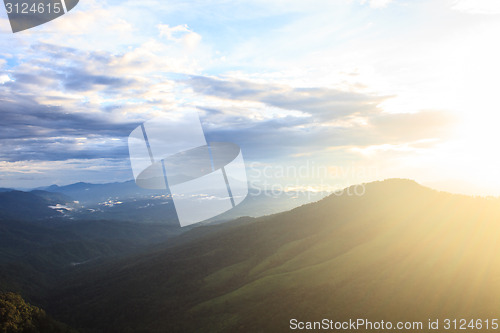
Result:
[[[142,251],[174,234],[163,225],[118,221],[69,221],[47,226],[0,221],[0,291],[39,299],[78,263]]]

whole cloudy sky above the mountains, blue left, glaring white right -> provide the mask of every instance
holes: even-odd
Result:
[[[500,195],[494,0],[94,1],[13,34],[0,187],[133,178],[127,138],[198,110],[254,187],[410,178]]]

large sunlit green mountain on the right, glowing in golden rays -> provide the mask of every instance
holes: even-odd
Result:
[[[491,324],[500,201],[400,179],[364,189],[195,228],[78,272],[44,304],[75,327],[106,332],[288,332],[293,318]]]

